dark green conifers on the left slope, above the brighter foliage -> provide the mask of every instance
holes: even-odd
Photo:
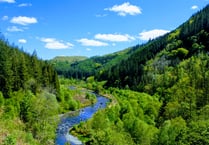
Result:
[[[3,37],[0,40],[0,91],[9,98],[10,93],[29,89],[36,94],[40,88],[48,87],[59,97],[57,73],[46,61],[11,47]]]

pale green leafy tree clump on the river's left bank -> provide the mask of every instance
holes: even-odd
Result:
[[[38,139],[41,144],[51,144],[55,138],[58,121],[59,106],[56,97],[44,91],[36,99],[31,100],[29,106],[25,120],[27,126],[32,131],[34,138]]]

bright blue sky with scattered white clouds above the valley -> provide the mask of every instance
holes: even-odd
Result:
[[[0,32],[42,59],[105,55],[174,30],[209,0],[0,0]]]

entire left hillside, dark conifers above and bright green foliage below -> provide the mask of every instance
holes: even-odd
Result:
[[[0,144],[53,144],[60,86],[56,71],[0,39]]]

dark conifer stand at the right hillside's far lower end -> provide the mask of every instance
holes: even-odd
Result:
[[[145,45],[138,46],[135,53],[110,68],[96,74],[96,79],[107,80],[106,86],[137,90],[143,74],[143,65],[153,58],[166,45],[165,38],[158,38]]]

